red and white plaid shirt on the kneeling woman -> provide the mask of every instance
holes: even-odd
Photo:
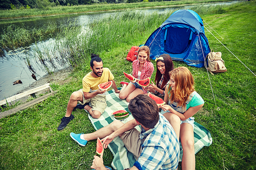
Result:
[[[138,79],[138,71],[139,71],[139,66],[140,66],[140,62],[139,60],[134,60],[133,61],[133,77],[135,77],[136,79]],[[152,62],[148,62],[145,61],[144,65],[141,69],[141,75],[140,75],[140,80],[144,80],[146,78],[151,78],[152,74],[154,71],[154,65]],[[143,89],[144,94],[147,93],[146,90]]]

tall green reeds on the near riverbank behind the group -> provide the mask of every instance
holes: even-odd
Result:
[[[223,9],[223,7],[197,7],[195,11],[211,14],[212,10],[215,10],[214,13],[217,13],[216,11],[222,13],[217,9]],[[176,10],[178,9],[161,15],[157,13],[141,14],[134,10],[125,10],[118,12],[118,15],[91,23],[88,31],[81,32],[80,28],[66,28],[58,34],[55,49],[62,56],[68,57],[71,65],[82,66],[81,59],[88,59],[91,53],[110,51],[123,44],[144,44],[147,37]],[[138,42],[137,39],[140,41]],[[63,51],[65,55],[63,55]]]

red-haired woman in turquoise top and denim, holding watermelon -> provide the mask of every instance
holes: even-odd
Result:
[[[170,71],[170,82],[165,88],[164,101],[160,106],[162,114],[168,119],[180,138],[183,156],[182,169],[195,169],[194,114],[204,105],[204,100],[195,91],[194,78],[187,67]]]

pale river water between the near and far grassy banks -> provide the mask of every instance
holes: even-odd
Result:
[[[232,2],[234,3],[234,2]],[[222,4],[232,4],[222,3]],[[216,5],[216,4],[214,4]],[[188,9],[191,6],[184,6],[183,9]],[[173,8],[165,9],[143,9],[136,10],[142,13],[157,12],[159,14],[166,13]],[[42,27],[54,23],[57,26],[68,25],[70,21],[76,20],[78,25],[87,28],[88,24],[99,18],[109,17],[110,15],[117,15],[119,12],[102,12],[102,13],[86,13],[86,14],[72,14],[72,15],[58,15],[48,17],[38,17],[33,21],[13,21],[12,25],[25,27]],[[0,33],[3,32],[10,24],[0,25]],[[10,96],[24,90],[36,80],[43,79],[46,75],[52,74],[54,71],[70,67],[69,62],[63,61],[60,58],[51,57],[40,60],[40,56],[36,51],[43,51],[49,53],[53,47],[54,39],[32,43],[29,46],[18,48],[13,51],[5,51],[4,55],[0,56],[0,100],[9,98]],[[49,56],[54,54],[49,53]],[[36,80],[32,78],[32,74],[36,76]],[[22,84],[13,84],[13,82],[20,80]],[[39,85],[38,85],[39,86]]]

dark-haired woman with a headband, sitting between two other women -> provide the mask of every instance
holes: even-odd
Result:
[[[164,99],[164,90],[167,84],[170,82],[169,72],[174,69],[174,63],[168,54],[162,54],[156,59],[156,62],[156,85],[152,82],[152,84],[147,86],[145,89]]]

